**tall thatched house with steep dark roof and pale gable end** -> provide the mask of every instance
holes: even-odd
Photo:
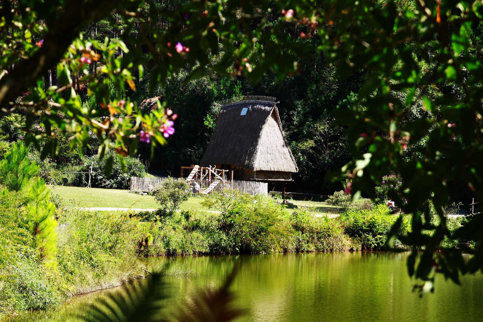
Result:
[[[224,101],[200,166],[231,170],[234,179],[291,180],[298,168],[275,99],[258,96]]]

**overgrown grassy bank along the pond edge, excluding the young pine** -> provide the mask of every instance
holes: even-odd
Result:
[[[142,256],[147,255],[381,250],[397,219],[384,205],[329,219],[314,217],[312,208],[287,210],[267,196],[232,194],[200,201],[220,212],[134,214],[61,205],[53,258],[42,258],[31,247],[31,235],[18,231],[24,239],[14,245],[14,256],[2,257],[7,262],[0,278],[2,316],[55,306],[72,294],[142,275]],[[405,217],[403,233],[410,219]],[[407,249],[400,242],[396,246]]]

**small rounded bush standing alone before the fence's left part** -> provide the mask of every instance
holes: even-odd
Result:
[[[176,180],[168,177],[163,183],[153,190],[153,196],[157,203],[170,215],[176,211],[182,202],[191,196],[191,186],[185,180]]]

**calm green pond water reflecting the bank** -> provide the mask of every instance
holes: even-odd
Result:
[[[165,313],[207,286],[219,285],[235,261],[236,306],[248,314],[237,321],[483,321],[483,275],[444,278],[419,298],[406,269],[406,253],[338,252],[276,255],[175,257],[187,276],[168,276]],[[159,266],[167,258],[152,258]],[[171,259],[172,260],[172,259]],[[77,296],[60,308],[31,312],[15,321],[77,321],[73,316],[109,290]]]

